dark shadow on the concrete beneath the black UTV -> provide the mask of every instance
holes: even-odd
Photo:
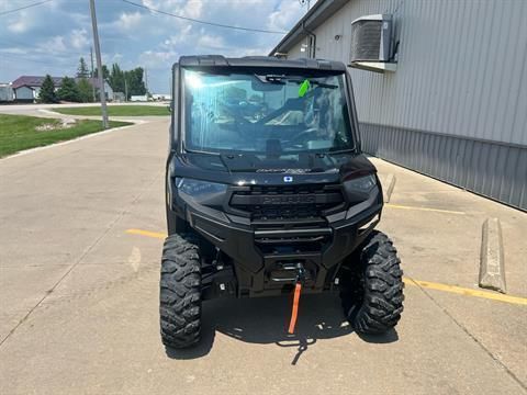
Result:
[[[245,342],[296,348],[296,356],[291,362],[294,365],[317,340],[347,336],[354,331],[343,314],[339,297],[335,295],[303,295],[294,335],[288,334],[290,314],[289,296],[205,302],[201,342],[186,350],[167,349],[167,356],[178,360],[203,357],[211,350],[217,330]],[[360,338],[372,343],[390,343],[399,336],[392,330],[381,336],[360,335]]]

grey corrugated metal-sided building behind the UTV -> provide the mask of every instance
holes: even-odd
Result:
[[[305,57],[310,31],[349,64],[351,21],[379,13],[397,65],[349,68],[363,150],[527,210],[527,1],[319,0],[272,54]]]

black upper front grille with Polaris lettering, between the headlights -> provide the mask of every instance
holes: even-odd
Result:
[[[231,206],[253,221],[313,219],[344,206],[338,184],[248,187],[236,190]]]

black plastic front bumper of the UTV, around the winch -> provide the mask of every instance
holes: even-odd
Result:
[[[316,293],[332,289],[341,261],[379,222],[382,210],[379,194],[375,188],[367,201],[329,215],[317,226],[279,229],[259,227],[248,218],[215,211],[179,195],[175,196],[175,206],[195,232],[233,260],[237,280],[233,287],[237,289],[238,296],[289,292],[294,285],[294,274],[289,268],[296,263],[302,263],[307,272],[303,292]],[[302,247],[295,249],[296,245]]]

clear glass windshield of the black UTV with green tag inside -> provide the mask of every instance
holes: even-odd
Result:
[[[186,69],[186,148],[268,157],[352,149],[344,77]]]

